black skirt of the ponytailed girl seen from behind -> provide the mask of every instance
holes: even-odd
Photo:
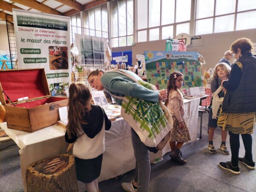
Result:
[[[90,183],[100,175],[103,154],[93,159],[79,159],[75,157],[77,180]]]

